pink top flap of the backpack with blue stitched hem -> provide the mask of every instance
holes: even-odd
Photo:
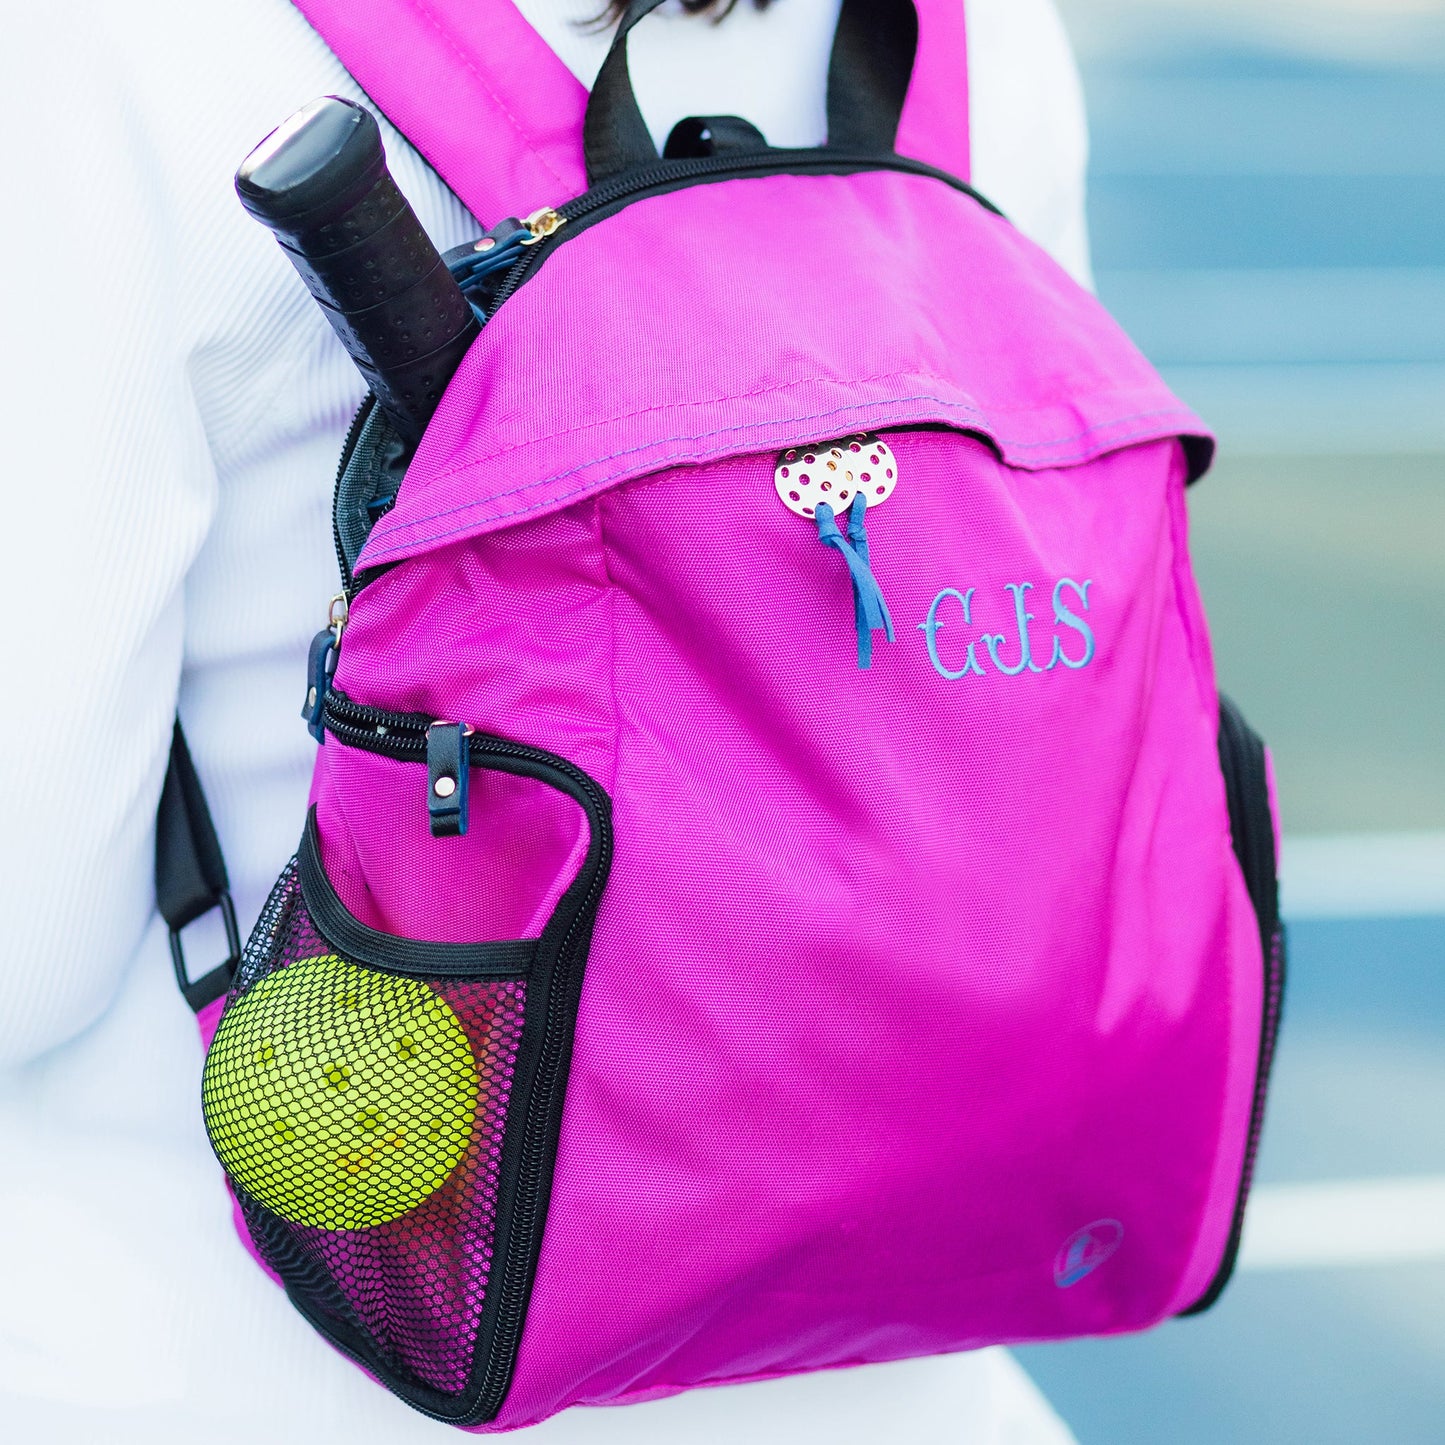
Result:
[[[655,197],[559,247],[488,322],[363,565],[679,461],[925,423],[983,432],[1020,470],[1204,434],[1097,299],[939,181]]]

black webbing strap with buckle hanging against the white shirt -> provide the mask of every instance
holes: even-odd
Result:
[[[199,1013],[230,987],[241,961],[241,936],[236,926],[225,860],[205,805],[201,779],[191,750],[185,746],[181,720],[171,736],[171,763],[156,809],[156,907],[171,929],[171,958],[185,1001]],[[221,910],[230,957],[194,983],[186,972],[181,931],[211,909]]]

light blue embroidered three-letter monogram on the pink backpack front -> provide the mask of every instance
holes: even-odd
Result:
[[[918,624],[928,642],[928,660],[933,663],[933,670],[941,678],[948,678],[951,682],[965,678],[971,672],[978,673],[980,678],[987,676],[990,670],[1001,672],[1006,678],[1017,678],[1023,672],[1052,672],[1061,665],[1078,672],[1079,668],[1087,668],[1094,660],[1094,629],[1079,616],[1079,613],[1088,611],[1088,590],[1092,585],[1092,582],[1075,582],[1072,577],[1061,577],[1053,584],[1053,631],[1042,643],[1043,647],[1049,649],[1048,662],[1039,662],[1035,655],[1036,634],[1032,629],[1038,618],[1029,611],[1029,592],[1035,591],[1033,582],[1007,582],[1004,585],[1004,591],[1013,600],[1013,637],[1001,631],[980,631],[978,636],[967,640],[964,636],[952,637],[957,623],[951,626],[949,614],[955,616],[957,621],[965,627],[972,627],[974,592],[978,588],[970,587],[967,592],[961,592],[957,587],[945,587],[933,598],[928,617]],[[1064,630],[1062,634],[1059,629]],[[942,649],[938,642],[941,631],[951,634]],[[1074,649],[1072,655],[1065,650],[1065,642]],[[980,653],[980,643],[983,653]],[[984,666],[984,656],[988,659],[988,668]]]

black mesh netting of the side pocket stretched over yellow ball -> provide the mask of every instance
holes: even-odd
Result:
[[[487,1289],[525,990],[355,964],[292,863],[205,1062],[211,1144],[267,1263],[387,1370],[448,1393]]]

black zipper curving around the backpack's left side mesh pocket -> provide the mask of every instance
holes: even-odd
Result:
[[[335,689],[327,696],[325,725],[338,743],[403,762],[425,763],[426,728],[434,721],[436,720],[422,712],[390,712],[384,708],[363,707]],[[566,1065],[571,1059],[587,948],[613,855],[611,799],[582,769],[555,753],[488,733],[474,733],[468,737],[467,750],[473,767],[491,766],[538,777],[552,782],[574,798],[587,814],[592,829],[592,847],[558,905],[555,916],[565,920],[565,929],[555,942],[556,964],[549,975],[539,967],[530,985],[542,984],[546,990],[545,1017],[529,1066],[533,1087],[526,1100],[520,1144],[514,1153],[509,1150],[504,1156],[499,1181],[499,1199],[510,1189],[512,1208],[506,1220],[501,1209],[497,1211],[493,1241],[499,1260],[497,1273],[493,1276],[496,1289],[488,1287],[486,1293],[477,1328],[478,1360],[486,1350],[480,1381],[460,1400],[410,1381],[397,1390],[423,1415],[448,1425],[464,1426],[483,1425],[494,1419],[512,1384],[522,1325],[542,1250],[542,1225],[551,1198],[562,1094],[566,1087]],[[549,931],[551,925],[539,944],[539,955],[543,957],[552,951]],[[519,1074],[520,1068],[519,1059]],[[296,1303],[301,1306],[301,1300]],[[383,1376],[390,1374],[377,1360],[376,1351],[368,1350],[364,1341],[338,1335],[331,1322],[318,1319],[312,1311],[301,1308],[311,1324],[345,1354],[357,1358],[368,1370],[380,1368]],[[475,1374],[474,1361],[474,1379]],[[392,1379],[394,1380],[394,1376]]]

